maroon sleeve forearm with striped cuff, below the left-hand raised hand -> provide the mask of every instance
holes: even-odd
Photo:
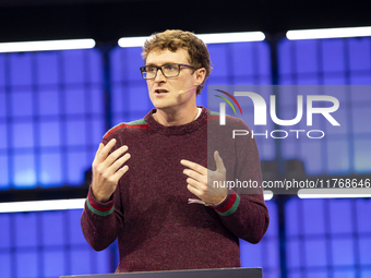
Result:
[[[107,141],[104,140],[103,143],[106,144]],[[120,186],[117,186],[107,203],[98,202],[91,186],[81,216],[82,231],[88,244],[96,251],[108,247],[122,230],[122,219]]]

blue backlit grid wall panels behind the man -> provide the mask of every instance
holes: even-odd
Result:
[[[266,41],[210,45],[208,49],[214,71],[206,85],[272,84]],[[278,84],[371,84],[369,37],[282,39],[276,50]],[[108,58],[105,70],[107,60],[98,49],[0,55],[0,190],[80,186],[107,125],[143,118],[153,108],[139,70],[141,48],[116,47]],[[206,106],[206,89],[198,98],[199,105]],[[370,104],[369,99],[363,107],[349,106],[362,122],[315,146],[325,153],[292,152],[295,143],[288,142],[283,145],[283,159],[306,161],[308,174],[371,173],[371,160],[366,159],[371,157]],[[279,109],[296,111],[285,104]],[[352,148],[355,142],[364,147]],[[275,147],[273,141],[259,142],[261,159],[275,159]],[[344,147],[351,149],[343,158],[345,166],[328,167],[327,158]],[[267,201],[267,206],[270,229],[258,245],[241,241],[242,266],[262,266],[264,277],[280,277],[279,249],[285,245],[290,278],[371,276],[370,200],[294,196],[285,203],[284,241],[278,237],[277,203]],[[0,214],[0,277],[115,271],[116,243],[93,251],[81,232],[81,213]]]

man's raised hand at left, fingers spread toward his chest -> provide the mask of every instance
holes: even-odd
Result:
[[[109,201],[120,178],[129,170],[127,165],[122,167],[130,158],[130,154],[122,156],[128,150],[128,146],[121,146],[108,155],[115,144],[115,138],[109,141],[106,146],[100,143],[93,161],[92,191],[94,197],[103,203]]]

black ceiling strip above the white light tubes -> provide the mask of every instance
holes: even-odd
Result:
[[[0,41],[371,25],[368,1],[0,0]]]

